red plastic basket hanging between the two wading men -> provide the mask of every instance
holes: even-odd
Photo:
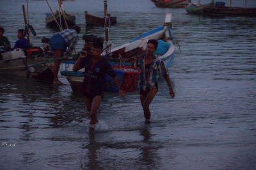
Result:
[[[137,72],[128,72],[124,71],[124,76],[122,79],[122,88],[125,92],[132,92],[136,89],[138,80],[139,80],[139,74],[141,73],[141,70],[138,68],[134,68],[132,66],[112,66],[113,69],[115,68],[125,68],[125,69],[132,69],[137,70]]]

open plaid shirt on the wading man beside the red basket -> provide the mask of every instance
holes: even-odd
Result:
[[[153,56],[153,61],[150,63],[150,73],[148,79],[145,77],[145,61],[141,58],[138,61],[138,68],[142,71],[139,76],[138,88],[140,90],[146,90],[146,88],[152,89],[158,81],[159,73],[163,76],[168,75],[168,70],[166,69],[164,62]]]

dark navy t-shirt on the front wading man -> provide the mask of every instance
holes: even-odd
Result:
[[[81,60],[79,70],[81,68],[84,68],[83,91],[93,96],[103,94],[106,73],[112,78],[116,76],[112,66],[104,58],[92,63],[92,56],[88,55]]]

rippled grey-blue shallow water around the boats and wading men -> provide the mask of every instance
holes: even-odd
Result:
[[[56,10],[56,2],[49,2]],[[0,25],[14,45],[26,1],[0,3]],[[108,7],[118,20],[109,30],[113,47],[161,26],[164,14],[173,13],[180,45],[169,68],[175,98],[161,80],[150,105],[152,122],[145,125],[138,91],[125,98],[105,93],[95,134],[89,135],[84,100],[70,86],[0,77],[0,169],[255,169],[255,17],[187,15],[147,0],[113,0]],[[81,36],[103,35],[102,27],[86,30],[84,24],[84,10],[103,15],[101,0],[65,2],[64,8],[76,15]],[[29,1],[38,34],[31,41],[38,46],[55,32],[45,27],[46,12],[45,1]]]

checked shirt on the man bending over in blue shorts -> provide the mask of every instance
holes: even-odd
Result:
[[[78,41],[78,34],[76,30],[64,29],[63,31],[60,31],[58,34],[60,34],[64,38],[65,42],[68,44],[67,54],[72,54],[72,51],[75,49]]]

